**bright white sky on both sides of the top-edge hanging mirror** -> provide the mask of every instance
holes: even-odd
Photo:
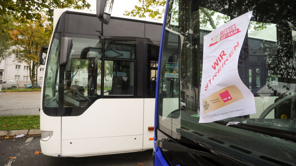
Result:
[[[91,7],[89,10],[94,11],[96,9],[96,0],[89,0]],[[125,10],[131,11],[135,5],[139,3],[139,0],[114,0],[112,7],[112,15],[123,15]]]

